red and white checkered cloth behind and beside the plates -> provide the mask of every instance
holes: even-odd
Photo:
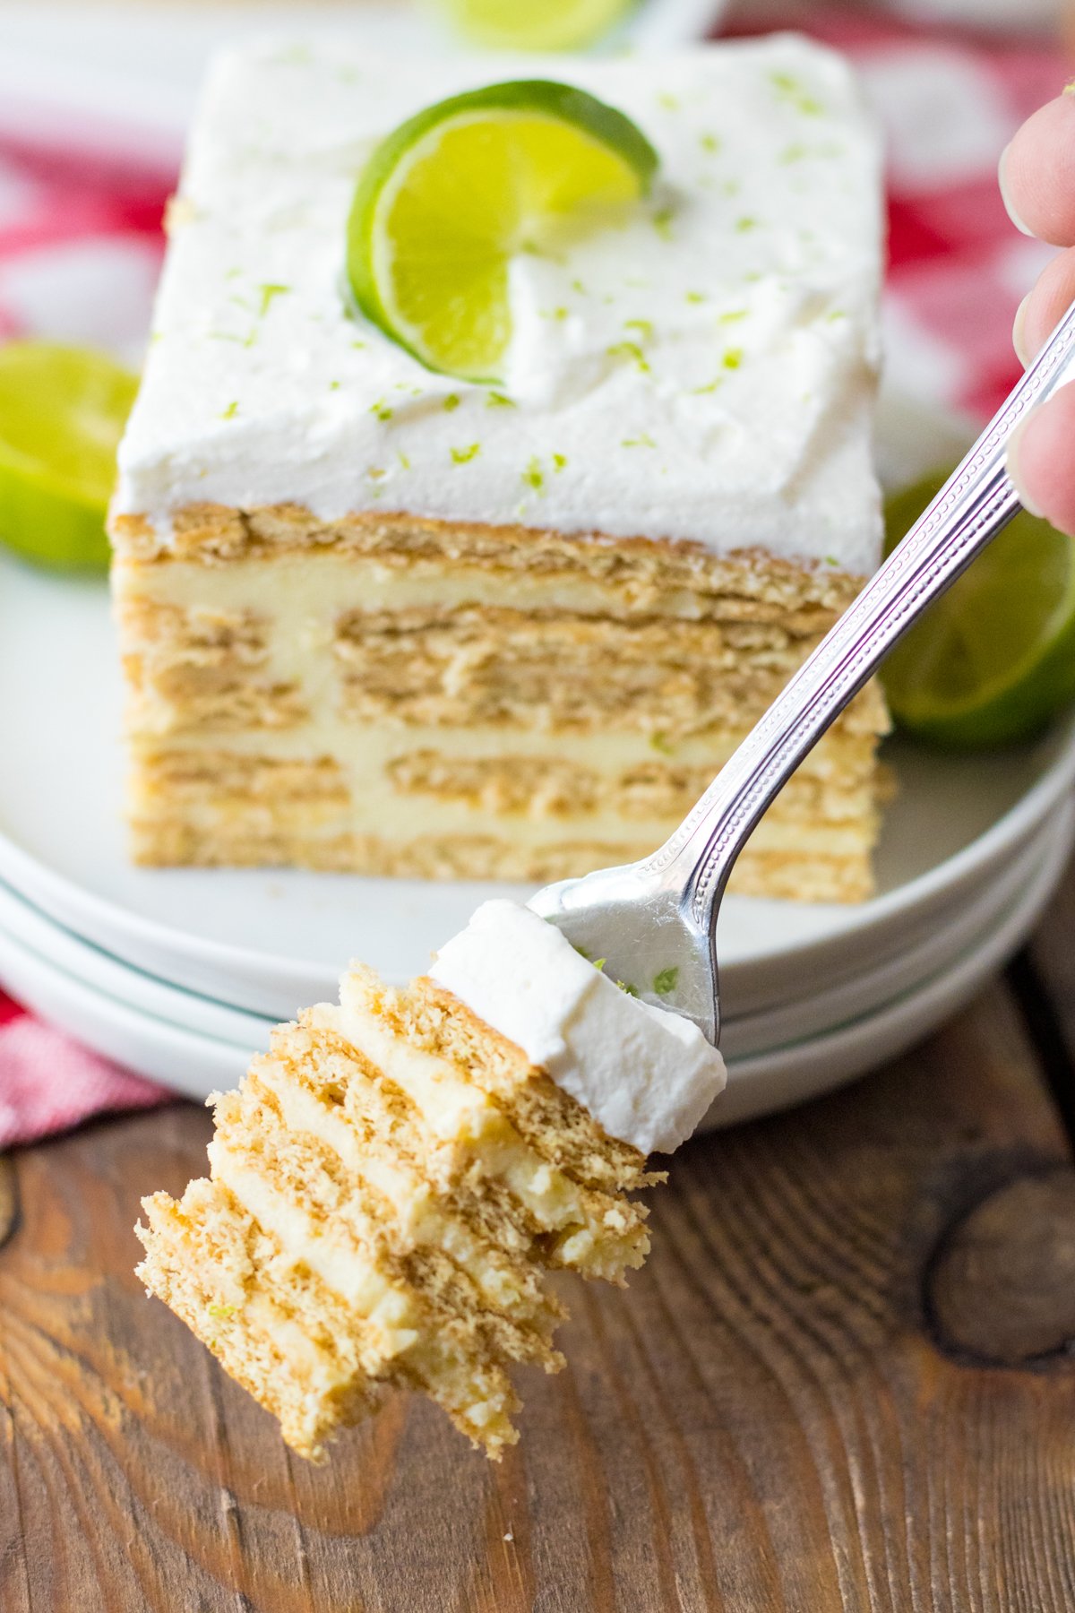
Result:
[[[853,56],[888,129],[890,376],[909,397],[986,416],[1017,377],[1012,318],[1049,256],[1007,221],[996,163],[1072,65],[1040,40],[924,31],[845,6],[819,6],[811,32]],[[48,336],[137,360],[174,174],[160,155],[116,160],[108,142],[32,127],[32,140],[0,127],[0,340]],[[0,994],[0,1147],[160,1097]]]

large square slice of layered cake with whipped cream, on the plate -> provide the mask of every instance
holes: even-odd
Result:
[[[572,60],[658,181],[513,261],[508,373],[474,386],[347,313],[345,226],[380,137],[508,76],[342,40],[211,74],[110,523],[140,861],[641,857],[877,565],[878,150],[846,65],[790,35]],[[885,721],[870,687],[733,889],[869,894]]]

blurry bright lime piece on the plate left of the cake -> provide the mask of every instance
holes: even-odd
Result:
[[[106,353],[0,347],[0,540],[42,566],[108,568],[105,510],[137,377]]]

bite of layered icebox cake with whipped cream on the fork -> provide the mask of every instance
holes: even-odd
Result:
[[[432,979],[355,966],[218,1095],[208,1177],[147,1198],[147,1287],[318,1458],[387,1387],[490,1457],[514,1363],[556,1371],[553,1268],[622,1284],[627,1194],[724,1086],[687,1019],[637,1002],[537,915],[479,908]]]

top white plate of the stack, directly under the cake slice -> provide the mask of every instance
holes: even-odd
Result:
[[[287,1018],[361,957],[421,971],[492,890],[471,882],[256,869],[139,869],[121,821],[121,689],[102,584],[0,558],[0,877],[50,918],[150,974]],[[719,948],[728,1013],[809,995],[894,957],[1011,860],[1075,776],[1075,731],[988,756],[898,744],[899,794],[857,907],[730,898]]]

